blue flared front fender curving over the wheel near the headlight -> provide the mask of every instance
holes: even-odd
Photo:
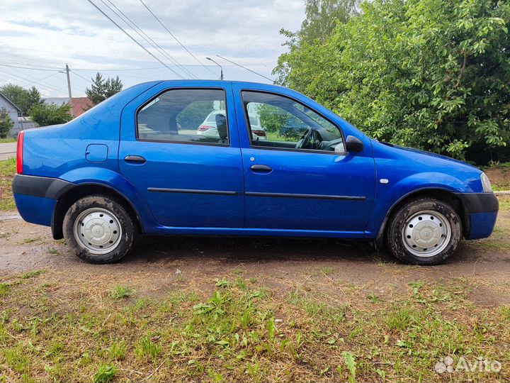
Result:
[[[372,216],[365,230],[367,238],[376,238],[392,209],[408,196],[424,190],[441,190],[450,193],[472,193],[471,187],[450,174],[421,172],[399,179],[394,184],[378,182]]]

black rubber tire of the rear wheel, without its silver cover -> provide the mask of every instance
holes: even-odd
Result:
[[[76,238],[75,235],[74,223],[78,218],[80,218],[81,213],[94,208],[113,214],[115,219],[118,221],[118,226],[121,228],[121,230],[118,231],[118,238],[115,240],[115,244],[113,245],[115,247],[112,248],[111,251],[103,254],[95,254],[94,250],[87,249],[86,244],[81,243],[81,239]],[[120,202],[115,199],[112,199],[109,196],[92,195],[79,199],[72,204],[64,216],[62,229],[67,245],[74,250],[78,257],[85,262],[105,264],[117,262],[130,252],[137,236],[137,225],[135,220],[136,218],[130,215],[123,204],[120,204]],[[83,226],[83,224],[81,226]],[[116,231],[113,231],[113,233],[116,233]],[[91,243],[89,243],[89,245],[91,245]]]

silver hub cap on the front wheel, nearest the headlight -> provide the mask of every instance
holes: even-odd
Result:
[[[438,211],[420,211],[409,217],[402,228],[404,247],[418,257],[439,254],[450,238],[450,222]]]

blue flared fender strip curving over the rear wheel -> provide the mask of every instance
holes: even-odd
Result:
[[[154,216],[140,191],[123,175],[101,167],[79,167],[62,174],[60,179],[77,185],[101,185],[117,191],[135,209],[142,227],[156,226]]]

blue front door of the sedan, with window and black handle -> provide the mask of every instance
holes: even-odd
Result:
[[[363,152],[346,153],[339,123],[304,103],[254,89],[235,94],[238,124],[246,126],[246,226],[362,237],[375,193],[369,141]],[[266,137],[254,138],[252,120],[261,121]]]

